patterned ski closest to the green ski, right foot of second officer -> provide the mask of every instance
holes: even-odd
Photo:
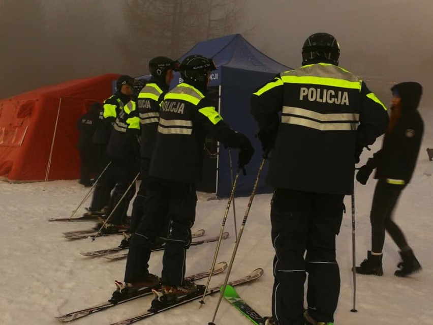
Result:
[[[254,270],[249,275],[247,275],[247,276],[245,276],[243,278],[240,278],[240,279],[235,280],[235,281],[230,281],[229,284],[231,286],[235,286],[235,285],[247,283],[247,282],[250,282],[250,281],[253,281],[253,280],[256,280],[256,279],[260,278],[262,275],[263,275],[263,269],[259,268],[259,269]],[[206,296],[208,296],[209,294],[212,294],[214,292],[219,292],[220,291],[220,287],[221,287],[221,285],[217,286],[217,287],[209,288],[206,291]],[[124,320],[120,320],[120,321],[111,323],[110,325],[129,325],[129,324],[132,324],[132,323],[134,323],[136,321],[139,321],[139,320],[148,318],[150,316],[156,315],[158,313],[161,313],[163,311],[169,310],[171,308],[174,308],[174,307],[177,307],[177,306],[189,303],[191,301],[200,299],[203,296],[203,293],[204,293],[204,290],[205,290],[205,286],[204,285],[197,285],[197,288],[198,288],[198,290],[196,292],[194,292],[192,294],[189,294],[189,295],[187,295],[187,296],[185,296],[185,297],[183,297],[181,299],[178,299],[176,301],[170,302],[169,304],[161,305],[159,307],[153,306],[153,307],[151,307],[145,313],[142,313],[140,315],[136,315],[136,316],[128,318],[128,319],[124,319]]]

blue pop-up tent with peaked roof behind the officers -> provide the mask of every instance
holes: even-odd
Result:
[[[250,114],[250,97],[257,87],[289,68],[260,52],[240,34],[199,42],[179,61],[192,54],[213,59],[218,69],[212,72],[209,87],[213,88],[217,95],[220,113],[233,130],[245,134],[252,141],[256,150],[252,161],[246,166],[247,174],[239,175],[236,188],[236,195],[250,195],[262,161],[261,145],[255,137],[257,124]],[[181,81],[180,74],[175,73],[171,87]],[[216,143],[210,143],[208,151],[210,154],[205,158],[203,181],[198,189],[227,197],[231,191],[229,152],[224,146],[218,147]],[[237,169],[237,152],[232,150],[233,173]],[[265,167],[258,193],[271,191],[264,185],[266,173]]]

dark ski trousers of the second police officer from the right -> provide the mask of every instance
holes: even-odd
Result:
[[[150,249],[159,237],[170,213],[171,224],[163,257],[161,283],[183,285],[191,227],[196,215],[195,184],[150,178],[144,202],[144,215],[129,248],[125,282],[141,282],[148,275]]]

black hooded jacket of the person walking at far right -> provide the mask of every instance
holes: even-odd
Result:
[[[417,82],[394,85],[401,97],[401,115],[391,132],[383,139],[382,149],[367,164],[376,167],[375,179],[387,179],[391,184],[411,181],[424,133],[424,123],[418,112],[422,87]]]

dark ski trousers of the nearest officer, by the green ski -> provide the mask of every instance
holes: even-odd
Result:
[[[335,236],[342,223],[343,199],[343,195],[275,190],[272,315],[280,325],[304,323],[305,272],[308,313],[317,321],[333,321],[340,289]]]

